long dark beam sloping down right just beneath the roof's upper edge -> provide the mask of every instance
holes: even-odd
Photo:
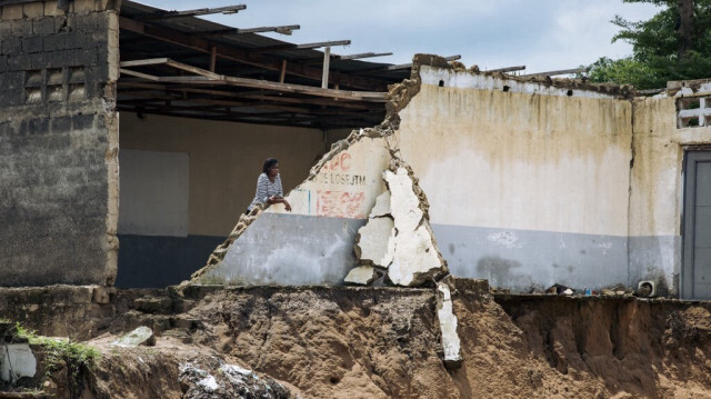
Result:
[[[210,42],[173,29],[143,23],[126,17],[119,17],[119,23],[121,29],[149,38],[208,54],[211,53],[212,47],[214,47],[217,49],[217,57],[272,71],[281,71],[282,62],[280,59],[254,53],[252,50],[238,49],[222,43]],[[321,81],[322,78],[322,71],[320,68],[312,68],[294,61],[289,62],[286,71],[289,74],[312,79],[314,81]],[[348,76],[340,72],[331,72],[329,76],[329,83],[363,90],[387,90],[385,82],[364,77]]]

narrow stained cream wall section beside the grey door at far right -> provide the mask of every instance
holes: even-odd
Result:
[[[663,279],[674,293],[680,293],[684,151],[711,143],[709,127],[677,128],[678,98],[634,102],[629,220],[631,278]]]

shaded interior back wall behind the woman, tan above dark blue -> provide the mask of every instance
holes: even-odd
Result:
[[[117,285],[188,279],[254,198],[264,159],[279,160],[287,192],[307,177],[331,136],[342,132],[122,112]]]

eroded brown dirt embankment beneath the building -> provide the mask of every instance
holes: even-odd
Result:
[[[111,346],[118,330],[88,341],[102,356],[83,397],[199,397],[181,381],[190,362],[218,382],[222,365],[254,370],[303,398],[711,398],[707,303],[457,287],[455,370],[441,361],[432,289],[199,290],[172,296],[181,312],[117,317],[114,328],[168,329],[154,347]]]

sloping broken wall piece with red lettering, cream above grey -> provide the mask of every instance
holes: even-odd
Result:
[[[351,138],[353,138],[351,136]],[[385,138],[361,136],[314,167],[313,176],[287,200],[249,226],[203,283],[340,285],[356,266],[356,233],[385,187],[390,152]]]

